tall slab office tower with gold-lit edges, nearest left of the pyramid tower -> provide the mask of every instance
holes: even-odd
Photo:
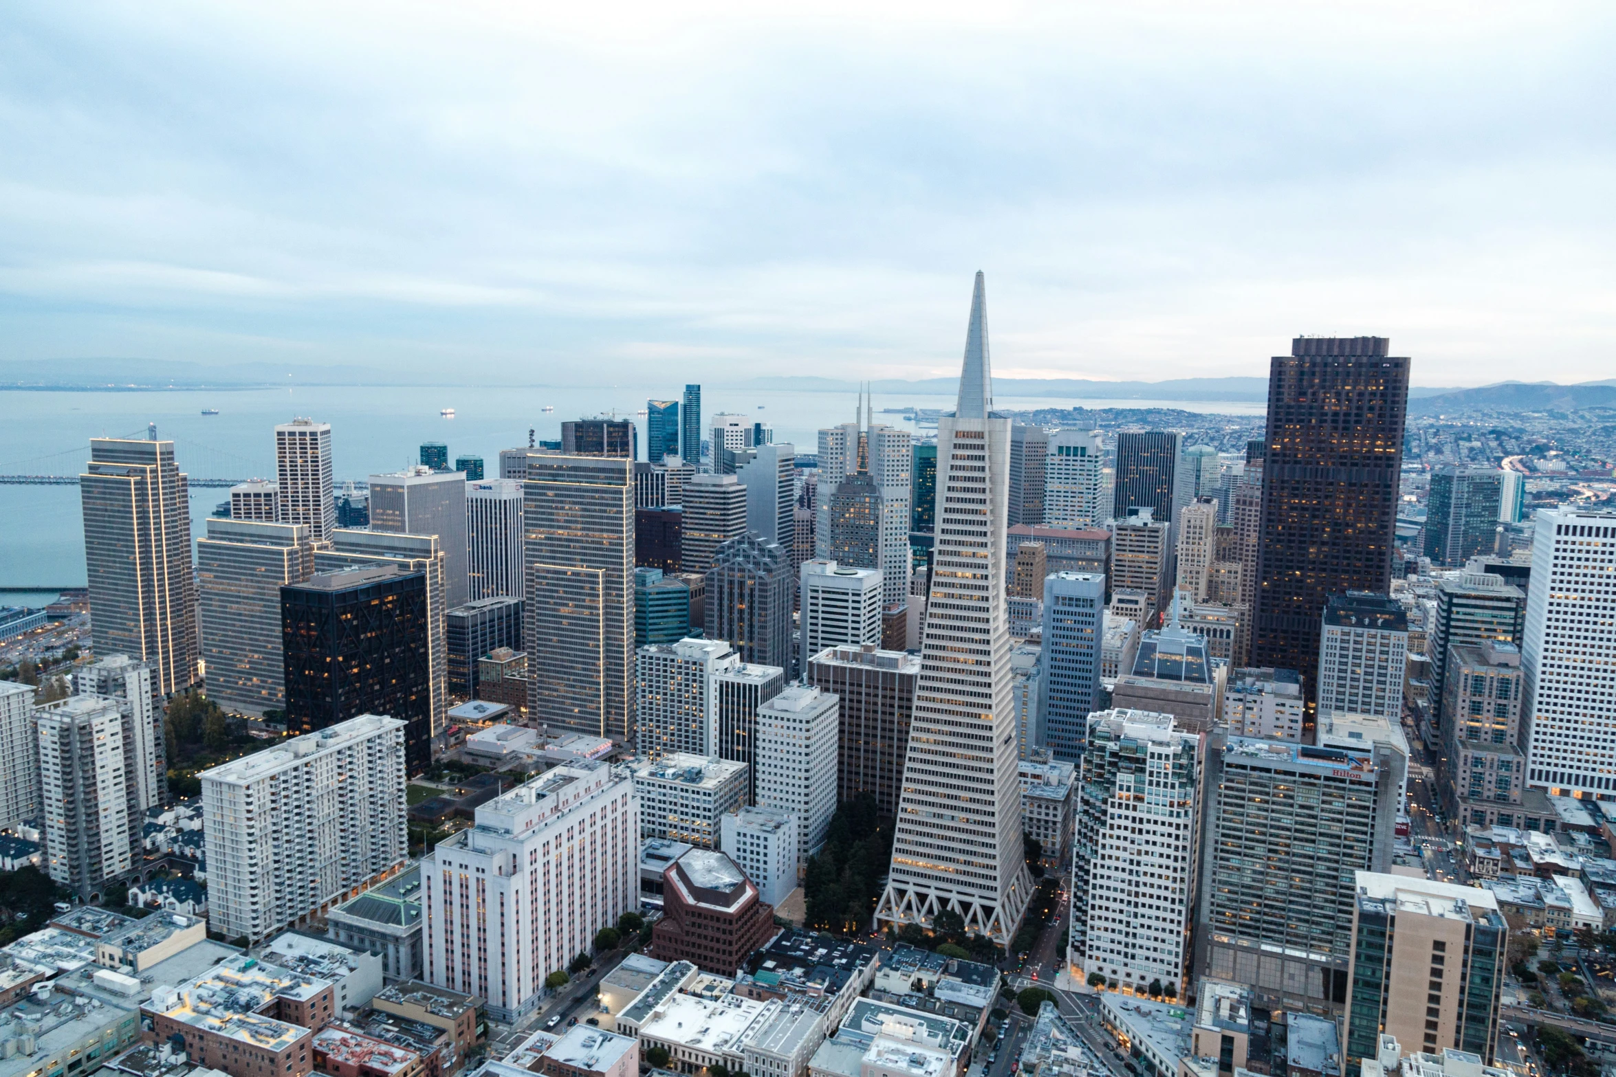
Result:
[[[633,460],[528,457],[528,715],[633,738]]]

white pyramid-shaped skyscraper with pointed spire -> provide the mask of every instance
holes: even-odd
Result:
[[[937,420],[937,546],[892,872],[876,916],[1008,943],[1033,890],[1005,618],[1010,420],[992,415],[987,299],[976,274],[960,400]]]

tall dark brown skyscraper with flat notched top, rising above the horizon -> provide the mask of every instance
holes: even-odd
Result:
[[[1296,337],[1269,373],[1252,665],[1314,699],[1332,594],[1391,586],[1409,360],[1387,337]]]

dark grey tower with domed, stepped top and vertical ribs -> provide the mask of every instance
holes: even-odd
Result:
[[[790,551],[756,534],[734,538],[706,572],[706,638],[724,639],[742,662],[793,668]]]

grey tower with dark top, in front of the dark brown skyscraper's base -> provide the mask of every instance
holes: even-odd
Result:
[[[1332,594],[1319,636],[1319,714],[1345,710],[1403,720],[1409,618],[1383,594]]]

